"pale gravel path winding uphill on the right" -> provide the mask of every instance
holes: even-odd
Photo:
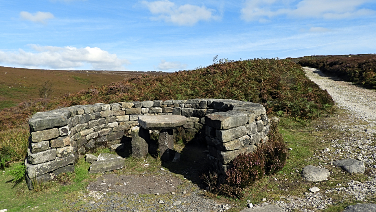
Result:
[[[336,204],[330,193],[336,193],[343,200],[355,199],[360,202],[376,200],[376,92],[353,85],[351,82],[340,81],[336,77],[328,77],[315,68],[303,67],[310,80],[322,89],[326,89],[336,105],[348,111],[347,120],[330,123],[328,127],[343,132],[339,137],[328,143],[327,150],[317,150],[312,159],[322,163],[312,164],[320,168],[332,166],[333,161],[352,158],[363,161],[368,177],[363,182],[343,179],[336,187],[320,190],[316,193],[305,192],[304,197],[286,196],[279,201],[268,203],[277,204],[286,211],[316,211],[325,209],[328,205]],[[319,127],[319,126],[318,126]],[[366,174],[364,174],[366,175]],[[319,185],[318,185],[319,186]],[[261,207],[267,203],[256,205]]]

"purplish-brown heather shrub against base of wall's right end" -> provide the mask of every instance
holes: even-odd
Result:
[[[287,148],[278,131],[278,122],[271,122],[269,140],[258,146],[254,153],[235,157],[233,167],[226,171],[225,180],[220,182],[215,174],[203,175],[202,179],[210,190],[219,191],[233,198],[243,197],[243,188],[261,179],[265,174],[274,174],[286,164]],[[215,183],[216,182],[216,183]],[[210,186],[217,185],[216,189]]]

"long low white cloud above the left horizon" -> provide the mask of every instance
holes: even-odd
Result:
[[[130,64],[126,59],[119,59],[116,54],[97,47],[56,47],[38,46],[30,47],[37,53],[0,51],[0,62],[24,67],[48,67],[52,69],[72,69],[90,64],[94,70],[124,70],[124,64]]]

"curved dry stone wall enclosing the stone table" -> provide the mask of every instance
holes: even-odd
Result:
[[[33,180],[48,181],[73,172],[79,155],[98,146],[121,143],[139,116],[181,115],[180,133],[207,142],[208,158],[222,174],[239,154],[256,150],[268,139],[269,122],[261,104],[231,99],[189,99],[75,105],[35,114],[30,120],[29,188]]]

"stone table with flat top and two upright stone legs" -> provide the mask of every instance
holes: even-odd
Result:
[[[138,117],[138,124],[144,130],[132,128],[133,157],[144,157],[147,154],[146,140],[150,138],[148,130],[160,130],[158,139],[160,159],[169,160],[173,156],[173,129],[185,123],[186,118],[178,115]]]

